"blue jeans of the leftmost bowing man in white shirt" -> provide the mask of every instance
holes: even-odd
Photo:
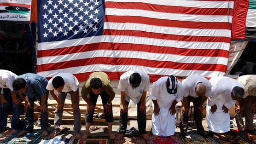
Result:
[[[11,111],[11,109],[13,109],[11,127],[13,129],[19,129],[19,118],[20,113],[22,112],[22,106],[12,103],[12,94],[10,89],[2,88],[1,93],[8,103],[0,105],[0,131],[6,129],[8,112]],[[21,98],[18,95],[16,97],[21,100]]]

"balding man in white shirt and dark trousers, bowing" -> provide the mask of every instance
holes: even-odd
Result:
[[[190,102],[194,106],[194,119],[196,121],[197,133],[203,137],[207,137],[202,125],[203,104],[207,97],[211,96],[211,83],[200,75],[190,75],[182,81],[184,98],[182,100],[182,110],[180,117],[180,138],[186,137],[188,129],[188,111]],[[185,130],[184,130],[185,127]]]

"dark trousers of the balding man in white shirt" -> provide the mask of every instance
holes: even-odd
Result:
[[[198,106],[201,103],[201,97],[198,98],[194,98],[191,96],[187,97],[187,107],[190,107],[190,102],[193,103],[194,105],[194,119],[196,121],[196,126],[197,126],[197,132],[198,133],[205,133],[204,131],[204,127],[202,125],[202,121],[203,121],[203,117],[202,117],[202,113],[198,112]],[[184,107],[184,104],[182,103],[182,107]],[[188,113],[182,115],[180,117],[180,133],[186,133],[187,131],[187,125],[188,125]],[[184,130],[185,128],[185,130]]]

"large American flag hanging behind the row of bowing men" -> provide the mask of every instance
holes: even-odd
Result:
[[[37,73],[94,71],[224,75],[231,39],[229,0],[38,0]]]

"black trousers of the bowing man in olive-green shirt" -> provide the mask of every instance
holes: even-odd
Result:
[[[109,99],[109,95],[107,92],[103,91],[103,92],[100,92],[99,94],[95,94],[93,92],[90,92],[87,96],[87,98],[89,98],[89,100],[93,103],[94,106],[96,106],[96,103],[97,103],[97,99],[98,97],[101,97],[101,100],[102,100],[102,104],[106,104],[108,99]],[[111,113],[107,113],[106,112],[106,109],[104,109],[104,114],[105,114],[105,121],[106,122],[113,122],[113,107],[112,107],[112,104],[111,104]],[[93,109],[93,112],[91,114],[85,114],[85,122],[93,122],[93,113],[94,113],[94,109]]]

